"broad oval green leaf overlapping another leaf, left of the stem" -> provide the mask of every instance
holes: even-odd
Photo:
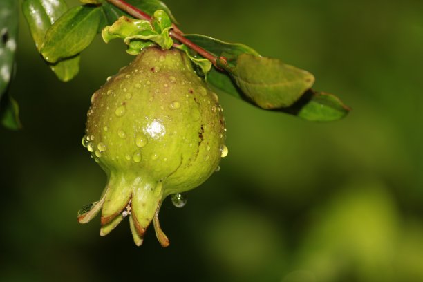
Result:
[[[100,8],[77,6],[68,10],[51,26],[41,48],[43,57],[51,63],[82,52],[97,34]]]

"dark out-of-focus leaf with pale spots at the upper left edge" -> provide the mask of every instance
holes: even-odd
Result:
[[[19,20],[16,0],[0,1],[0,99],[12,77]]]

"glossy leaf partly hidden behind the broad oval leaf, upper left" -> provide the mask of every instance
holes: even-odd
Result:
[[[22,3],[23,16],[28,23],[37,50],[44,44],[46,32],[61,17],[68,7],[63,0],[25,0]],[[57,78],[67,82],[79,72],[79,56],[63,59],[56,64],[46,62]]]

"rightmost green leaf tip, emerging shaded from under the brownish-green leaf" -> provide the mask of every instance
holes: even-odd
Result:
[[[297,115],[312,122],[330,122],[348,115],[350,108],[335,95],[323,92],[307,91],[292,106],[280,109],[285,113]]]

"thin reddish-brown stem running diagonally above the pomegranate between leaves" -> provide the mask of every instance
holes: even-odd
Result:
[[[128,13],[132,17],[135,17],[136,19],[144,19],[146,21],[151,21],[151,17],[149,15],[147,15],[147,13],[145,13],[142,10],[132,6],[129,3],[126,3],[124,0],[106,0],[106,1],[111,3],[113,6],[120,8],[120,10],[123,10],[124,12]],[[216,57],[212,53],[207,52],[207,50],[201,48],[200,46],[198,46],[197,44],[195,44],[191,40],[185,38],[183,36],[184,33],[182,32],[182,30],[180,30],[174,23],[172,23],[172,30],[169,32],[169,35],[173,39],[180,41],[180,43],[185,44],[186,46],[188,46],[192,50],[196,51],[196,53],[205,57],[205,59],[208,59],[210,62],[212,62],[212,64],[216,68],[220,69],[217,66],[218,57]]]

